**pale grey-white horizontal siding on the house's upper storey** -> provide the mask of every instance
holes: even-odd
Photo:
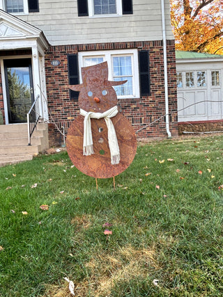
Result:
[[[77,0],[39,0],[39,13],[20,16],[41,29],[51,45],[162,40],[160,0],[133,0],[133,15],[78,17]],[[174,39],[165,0],[167,39]]]

